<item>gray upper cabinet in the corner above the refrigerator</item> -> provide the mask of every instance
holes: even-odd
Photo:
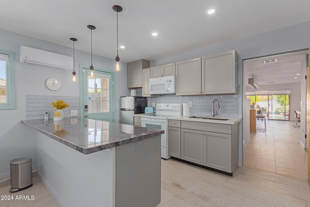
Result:
[[[146,60],[138,60],[127,64],[127,87],[142,87],[142,69],[150,67],[150,62]]]

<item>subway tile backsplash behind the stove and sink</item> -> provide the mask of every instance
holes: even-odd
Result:
[[[219,96],[174,96],[164,95],[157,97],[148,97],[147,105],[152,107],[152,103],[188,103],[192,102],[192,107],[189,108],[191,116],[211,116],[212,101],[217,99],[219,109],[216,103],[214,111],[217,111],[217,117],[238,118],[238,98],[239,95],[219,95]],[[155,107],[154,107],[154,110]]]

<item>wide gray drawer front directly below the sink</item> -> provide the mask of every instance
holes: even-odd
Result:
[[[232,126],[225,124],[215,124],[215,123],[205,123],[205,122],[192,122],[192,121],[182,121],[182,128],[211,131],[224,134],[232,133]]]

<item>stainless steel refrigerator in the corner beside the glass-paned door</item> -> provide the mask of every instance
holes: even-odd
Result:
[[[122,96],[121,97],[121,124],[134,125],[134,114],[144,113],[147,106],[146,97]]]

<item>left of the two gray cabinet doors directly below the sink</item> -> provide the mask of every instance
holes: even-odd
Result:
[[[181,129],[181,159],[203,164],[202,131]]]

